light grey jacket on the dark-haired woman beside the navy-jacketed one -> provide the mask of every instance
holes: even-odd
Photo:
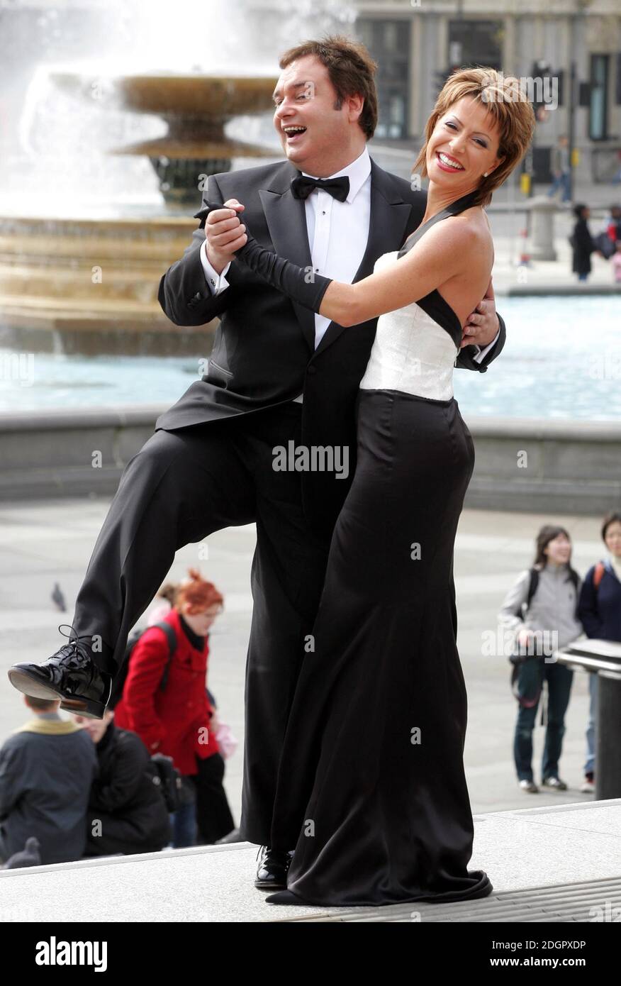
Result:
[[[520,572],[498,614],[499,623],[514,631],[516,636],[522,629],[556,630],[558,647],[565,647],[580,637],[583,625],[576,618],[576,602],[580,595],[581,580],[579,579],[577,593],[574,583],[569,579],[566,565],[546,565],[539,572],[536,592],[522,619],[517,611],[528,597],[529,582],[530,570]]]

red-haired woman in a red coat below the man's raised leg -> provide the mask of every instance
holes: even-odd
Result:
[[[207,634],[224,600],[196,569],[188,569],[188,575],[163,620],[176,637],[173,658],[164,630],[148,627],[131,653],[114,721],[121,729],[137,733],[151,754],[173,757],[174,766],[195,788],[197,842],[207,845],[235,827],[222,784],[224,759],[215,737],[214,710],[207,696]]]

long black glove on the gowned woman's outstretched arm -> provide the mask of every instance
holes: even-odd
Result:
[[[210,212],[213,212],[214,209],[223,208],[225,206],[220,203],[207,202],[200,212],[194,214],[194,218],[200,219],[201,226],[204,226],[204,221]],[[245,235],[248,240],[246,244],[235,251],[235,255],[277,291],[282,291],[293,301],[311,309],[311,312],[318,312],[331,279],[316,274],[312,267],[306,269],[299,267],[291,260],[279,256],[278,253],[273,253],[271,250],[265,249],[264,246],[260,246],[249,232],[242,214],[240,214],[240,219],[245,226]]]

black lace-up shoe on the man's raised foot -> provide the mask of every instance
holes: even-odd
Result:
[[[60,708],[66,712],[88,719],[104,718],[112,675],[97,667],[79,638],[64,644],[42,665],[13,665],[8,673],[11,684],[25,695],[60,698]]]

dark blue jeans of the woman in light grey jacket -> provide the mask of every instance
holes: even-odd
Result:
[[[519,669],[517,687],[524,697],[534,697],[543,682],[548,685],[547,724],[545,745],[541,761],[541,777],[558,777],[559,758],[565,735],[565,713],[569,705],[574,671],[557,662],[546,664],[543,658],[527,658]],[[517,713],[514,756],[516,758],[517,779],[531,781],[532,777],[532,730],[537,718],[537,703],[530,708],[519,706]]]

